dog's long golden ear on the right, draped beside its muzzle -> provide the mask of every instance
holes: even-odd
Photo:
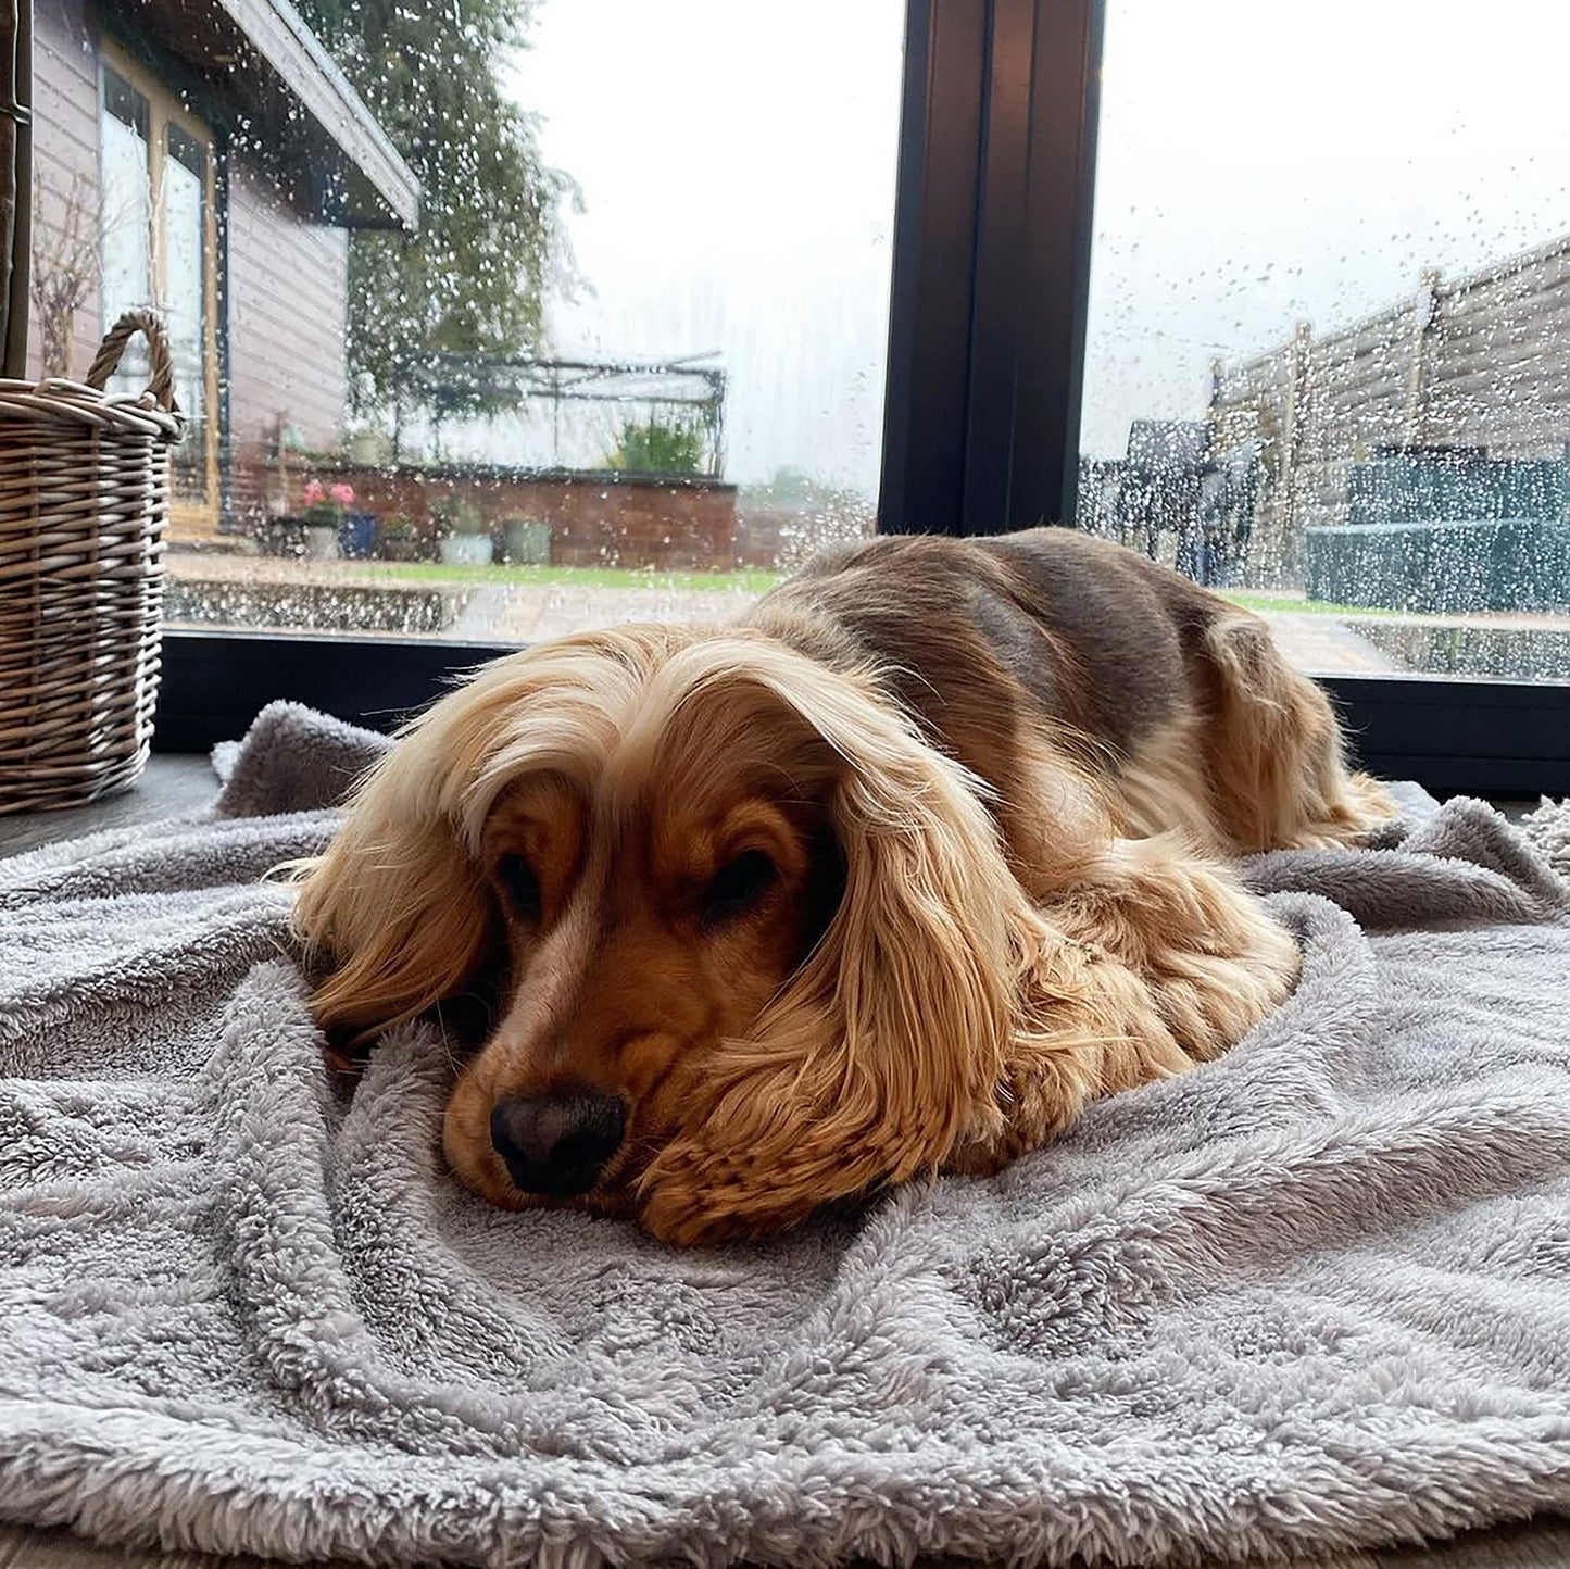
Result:
[[[754,1038],[705,1063],[692,1115],[642,1179],[645,1223],[680,1242],[788,1225],[936,1172],[978,1125],[1000,1123],[1039,949],[980,782],[868,682],[805,661],[730,678],[768,688],[832,751],[845,892]]]

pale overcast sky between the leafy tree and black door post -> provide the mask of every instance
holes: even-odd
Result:
[[[727,474],[876,490],[901,0],[543,0],[520,101],[582,187],[562,355],[721,350]]]

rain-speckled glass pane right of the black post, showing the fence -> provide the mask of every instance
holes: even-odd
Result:
[[[1311,671],[1570,678],[1567,50],[1110,0],[1080,525]]]

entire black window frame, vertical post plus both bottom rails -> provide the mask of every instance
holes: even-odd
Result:
[[[879,528],[1072,521],[1104,0],[907,0]],[[170,631],[154,746],[294,699],[392,729],[490,644]],[[1438,793],[1570,793],[1570,682],[1320,677],[1361,762]]]

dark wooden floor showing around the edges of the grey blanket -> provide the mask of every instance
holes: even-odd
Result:
[[[71,812],[0,817],[0,854],[16,854],[60,839],[104,828],[151,823],[199,812],[217,795],[218,781],[206,757],[159,755],[132,788],[110,801]],[[1520,817],[1537,803],[1496,803]],[[0,1511],[5,1500],[0,1498]],[[68,1531],[35,1531],[0,1525],[0,1569],[283,1569],[257,1558],[209,1558],[201,1553],[146,1553],[91,1547]],[[1424,1549],[1345,1553],[1305,1560],[1302,1569],[1565,1569],[1570,1566],[1570,1520],[1473,1531]],[[928,1569],[939,1569],[929,1564]],[[1280,1566],[1278,1566],[1280,1569]]]

